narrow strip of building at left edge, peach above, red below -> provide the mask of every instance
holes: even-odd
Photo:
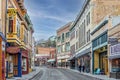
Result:
[[[6,1],[0,0],[0,80],[5,80]]]

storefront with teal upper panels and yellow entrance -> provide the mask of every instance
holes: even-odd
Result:
[[[103,74],[109,74],[107,44],[107,32],[103,32],[92,41],[93,73],[99,68]]]

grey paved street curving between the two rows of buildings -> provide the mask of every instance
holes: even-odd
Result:
[[[81,75],[69,69],[43,68],[43,74],[36,75],[32,80],[98,80],[92,77]]]

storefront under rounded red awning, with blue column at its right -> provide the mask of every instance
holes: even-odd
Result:
[[[8,47],[6,55],[6,76],[7,77],[21,77],[21,59],[22,55],[20,53],[19,47]]]

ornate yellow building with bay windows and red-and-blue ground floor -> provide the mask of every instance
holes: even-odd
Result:
[[[7,0],[6,77],[22,77],[31,69],[32,23],[24,0]],[[21,67],[22,66],[22,67]]]

